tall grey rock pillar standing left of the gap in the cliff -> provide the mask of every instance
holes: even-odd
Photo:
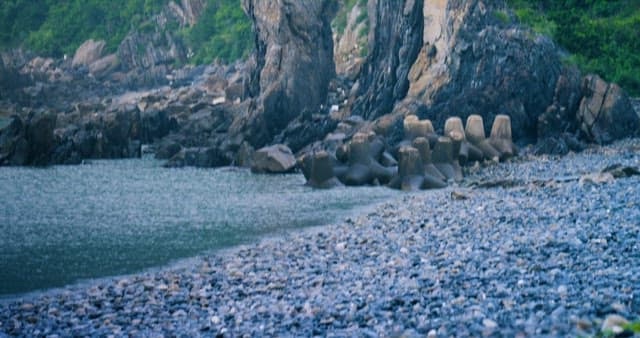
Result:
[[[254,146],[270,142],[302,112],[320,112],[334,77],[331,0],[243,0],[256,31],[250,88]]]

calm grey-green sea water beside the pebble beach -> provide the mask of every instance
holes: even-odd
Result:
[[[138,272],[339,221],[396,193],[143,160],[0,168],[0,295]]]

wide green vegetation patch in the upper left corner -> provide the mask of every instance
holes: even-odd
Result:
[[[103,39],[115,51],[120,41],[166,0],[4,0],[0,3],[0,48],[24,45],[40,54],[73,54],[85,40]]]

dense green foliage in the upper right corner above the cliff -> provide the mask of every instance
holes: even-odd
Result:
[[[509,0],[521,23],[550,35],[583,71],[640,96],[640,0]]]

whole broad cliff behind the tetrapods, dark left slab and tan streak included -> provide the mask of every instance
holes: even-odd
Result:
[[[354,114],[416,114],[437,129],[451,116],[491,121],[506,114],[517,140],[580,133],[580,102],[589,93],[579,72],[563,63],[553,41],[520,28],[505,1],[370,0],[369,11],[371,52]]]

